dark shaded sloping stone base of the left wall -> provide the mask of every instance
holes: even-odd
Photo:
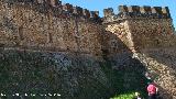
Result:
[[[110,94],[106,74],[90,55],[1,50],[0,68],[0,92],[8,98],[14,98],[13,94],[32,98],[33,94],[41,98],[100,99]]]

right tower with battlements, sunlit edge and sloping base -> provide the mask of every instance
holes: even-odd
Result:
[[[114,14],[113,9],[105,9],[106,30],[117,35],[130,48],[133,57],[143,63],[152,80],[160,87],[161,96],[175,99],[176,35],[168,8],[120,6],[119,10],[120,13]],[[112,61],[119,59],[116,57]],[[128,63],[128,57],[121,63],[123,61]]]

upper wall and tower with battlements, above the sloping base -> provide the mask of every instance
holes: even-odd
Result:
[[[102,47],[113,54],[125,52],[127,46],[135,52],[175,44],[167,7],[120,6],[119,14],[110,8],[105,9],[103,25],[98,12],[55,0],[6,0],[1,9],[1,46],[100,56]]]

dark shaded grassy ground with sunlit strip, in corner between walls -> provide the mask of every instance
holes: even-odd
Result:
[[[110,99],[133,99],[135,97],[135,92],[139,92],[142,96],[142,99],[147,97],[147,81],[142,75],[142,72],[145,69],[141,64],[136,63],[135,66],[132,67],[112,69],[110,64],[107,63],[106,65],[102,65],[101,68],[111,82],[113,94]],[[129,85],[129,87],[125,87],[125,85]]]

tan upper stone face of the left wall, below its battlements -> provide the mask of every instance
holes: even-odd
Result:
[[[100,54],[101,30],[88,19],[54,16],[50,9],[42,13],[33,10],[34,7],[9,7],[2,2],[0,8],[0,43],[4,46],[48,47]]]

